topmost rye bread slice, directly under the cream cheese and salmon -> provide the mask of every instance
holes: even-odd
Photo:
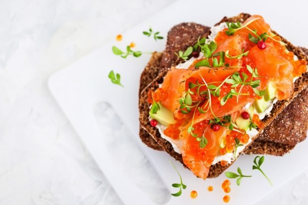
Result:
[[[243,16],[246,16],[245,18]],[[239,21],[244,21],[249,15],[245,14],[241,14],[238,16],[238,18],[232,18],[231,19],[226,19],[225,18],[225,21],[235,21],[235,20],[239,20]],[[307,59],[307,56],[305,55],[305,53],[303,51],[301,51],[300,49],[294,47],[290,42],[287,42],[285,39],[283,39],[283,41],[285,43],[287,43],[287,47],[290,51],[293,51],[297,56],[298,58],[302,59],[302,58],[305,58]],[[146,129],[151,135],[152,137],[154,137],[155,141],[163,147],[163,149],[168,153],[170,154],[171,156],[173,156],[176,160],[179,160],[180,162],[183,163],[182,161],[182,157],[181,157],[181,154],[178,154],[176,152],[174,152],[171,144],[164,140],[163,138],[160,137],[160,134],[158,132],[158,130],[154,127],[152,127],[149,123],[149,120],[148,120],[148,113],[149,113],[149,103],[147,103],[147,93],[149,90],[155,90],[158,88],[158,82],[162,81],[162,78],[163,76],[166,74],[167,71],[162,71],[158,76],[157,78],[150,84],[146,87],[146,89],[141,93],[141,96],[140,96],[140,100],[141,102],[143,103],[140,103],[139,105],[139,108],[140,108],[140,122],[141,122],[141,125],[144,129]],[[277,102],[275,105],[274,105],[274,108],[273,108],[273,112],[271,114],[271,116],[268,116],[268,117],[265,117],[263,122],[265,124],[265,127],[298,95],[298,93],[302,90],[305,89],[306,85],[307,85],[307,80],[308,79],[308,76],[307,76],[307,73],[304,74],[301,78],[299,78],[296,83],[295,83],[295,92],[293,93],[293,95],[291,96],[291,98],[289,100],[286,100],[286,101],[281,101],[281,102]],[[263,130],[260,129],[260,133],[262,132]],[[255,137],[257,138],[258,135]],[[255,139],[254,138],[254,139]],[[253,140],[254,140],[253,139]],[[231,164],[230,164],[231,165]],[[209,173],[209,178],[211,177],[216,177],[218,176],[219,174],[221,174],[225,169],[227,169],[230,165],[226,166],[226,167],[222,167],[220,165],[220,163],[217,163],[215,165],[212,165],[211,166],[211,169],[210,169],[210,173]]]

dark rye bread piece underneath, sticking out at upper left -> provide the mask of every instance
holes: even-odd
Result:
[[[174,52],[186,50],[187,47],[197,41],[199,36],[207,33],[209,29],[209,27],[196,23],[181,23],[172,27],[167,35],[165,51],[162,53],[154,52],[140,76],[139,95],[141,91],[154,80],[159,71],[169,68],[177,60]],[[163,150],[154,138],[142,128],[142,126],[139,128],[139,136],[142,142],[148,147],[154,150]]]

